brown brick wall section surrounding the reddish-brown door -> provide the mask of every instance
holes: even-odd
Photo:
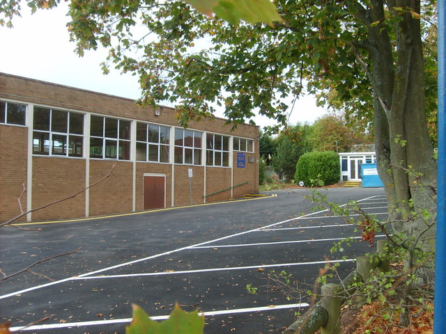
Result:
[[[166,207],[172,205],[172,166],[170,164],[152,164],[137,163],[137,180],[136,180],[136,210],[140,211],[143,207],[144,200],[144,173],[164,174],[166,175]]]

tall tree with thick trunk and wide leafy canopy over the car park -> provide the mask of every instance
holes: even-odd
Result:
[[[283,22],[273,28],[211,21],[178,1],[72,0],[68,28],[79,54],[102,44],[109,64],[139,76],[139,102],[177,102],[183,124],[212,116],[211,103],[236,123],[254,112],[286,122],[284,97],[300,94],[303,79],[344,101],[373,104],[378,172],[394,227],[432,250],[435,215],[412,210],[436,207],[424,86],[424,57],[431,56],[422,42],[434,2],[277,0]],[[2,9],[16,12],[17,3]]]

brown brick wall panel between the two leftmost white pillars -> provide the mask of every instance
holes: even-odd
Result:
[[[32,207],[47,205],[85,188],[85,160],[33,157]],[[33,212],[33,221],[85,216],[85,193]]]

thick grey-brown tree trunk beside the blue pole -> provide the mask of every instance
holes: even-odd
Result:
[[[399,1],[420,13],[420,1]],[[383,2],[375,1],[372,22],[384,17]],[[379,6],[377,5],[379,3]],[[415,3],[415,4],[414,4]],[[384,26],[369,29],[369,56],[374,86],[374,129],[378,173],[385,187],[390,221],[395,232],[406,234],[411,249],[408,266],[431,283],[432,263],[415,264],[420,248],[435,249],[436,161],[427,131],[424,102],[424,67],[420,19],[411,13],[398,23],[397,51]],[[392,54],[393,51],[393,54]],[[395,55],[396,54],[396,55]],[[428,256],[429,262],[433,256]]]

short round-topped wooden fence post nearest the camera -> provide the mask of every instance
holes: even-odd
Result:
[[[321,327],[321,334],[341,333],[341,297],[339,293],[340,285],[325,284],[321,287],[321,305],[328,312],[328,321]]]

